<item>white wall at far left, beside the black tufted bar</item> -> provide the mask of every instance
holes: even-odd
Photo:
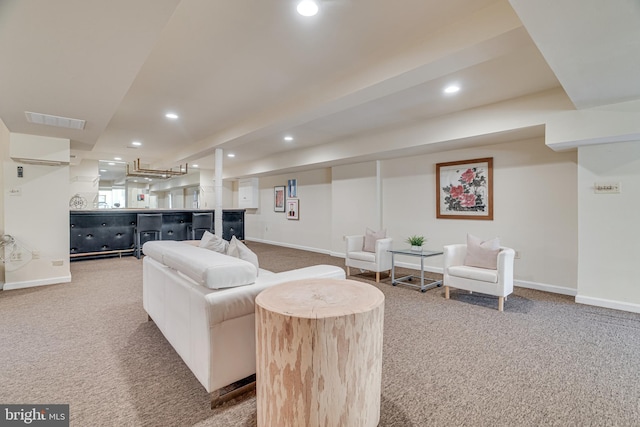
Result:
[[[60,145],[60,138],[19,135],[17,141],[29,141],[34,147]],[[69,140],[64,140],[68,151]],[[34,148],[34,158],[37,158]],[[16,169],[22,166],[24,177]],[[4,232],[11,234],[37,259],[15,271],[5,271],[4,289],[65,283],[71,281],[69,269],[69,166],[20,164],[5,158]],[[9,194],[13,194],[9,196]]]

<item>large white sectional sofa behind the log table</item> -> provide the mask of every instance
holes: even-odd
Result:
[[[255,374],[255,298],[262,290],[292,280],[345,278],[332,265],[258,270],[197,242],[147,242],[143,251],[144,309],[208,392]]]

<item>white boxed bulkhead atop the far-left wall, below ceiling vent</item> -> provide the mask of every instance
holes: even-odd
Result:
[[[64,166],[69,164],[69,145],[69,140],[64,138],[12,133],[9,156],[20,163]]]

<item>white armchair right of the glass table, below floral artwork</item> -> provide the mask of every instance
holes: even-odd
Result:
[[[443,286],[449,299],[449,287],[498,297],[498,310],[503,311],[507,295],[513,292],[513,260],[515,251],[500,247],[497,270],[469,267],[464,264],[467,245],[444,247]]]

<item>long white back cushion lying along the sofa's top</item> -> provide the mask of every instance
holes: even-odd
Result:
[[[258,274],[250,262],[181,242],[151,241],[143,251],[210,289],[250,285]]]

